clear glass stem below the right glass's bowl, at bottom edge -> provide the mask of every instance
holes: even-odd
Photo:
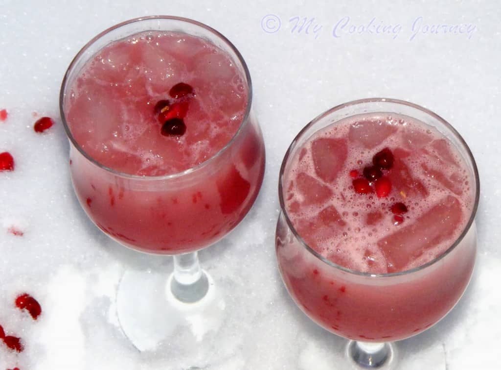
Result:
[[[353,361],[361,367],[377,368],[391,360],[392,350],[388,343],[352,341],[348,352]]]

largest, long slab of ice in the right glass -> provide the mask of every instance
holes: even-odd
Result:
[[[388,272],[404,270],[426,250],[452,236],[461,218],[459,200],[449,195],[418,219],[406,220],[409,225],[380,239],[377,245],[388,263]]]

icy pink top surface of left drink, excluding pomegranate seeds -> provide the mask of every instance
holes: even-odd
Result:
[[[179,82],[195,91],[181,137],[160,134],[153,107]],[[115,41],[83,67],[66,102],[73,136],[116,171],[159,176],[211,158],[234,136],[247,86],[230,56],[209,41],[148,31]]]

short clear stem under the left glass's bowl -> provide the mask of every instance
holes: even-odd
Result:
[[[172,275],[170,290],[172,295],[181,302],[197,302],[209,289],[209,281],[200,268],[197,252],[174,256]]]

